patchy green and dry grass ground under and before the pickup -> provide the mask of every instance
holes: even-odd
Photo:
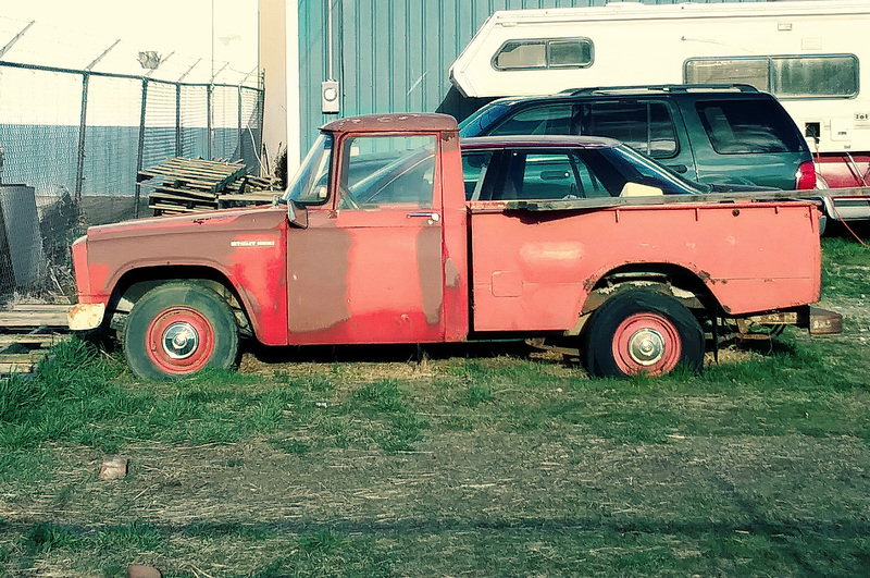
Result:
[[[142,383],[60,345],[0,381],[0,575],[866,576],[868,271],[825,239],[844,333],[699,377],[589,380],[499,345]],[[109,454],[125,479],[98,479]]]

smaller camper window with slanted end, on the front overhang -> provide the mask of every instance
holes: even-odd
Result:
[[[588,38],[508,40],[493,57],[499,71],[533,69],[585,69],[592,66],[593,44]]]

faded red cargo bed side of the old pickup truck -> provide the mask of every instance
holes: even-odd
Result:
[[[729,315],[813,303],[818,202],[766,195],[470,202],[473,329],[568,331],[625,268],[685,273]]]

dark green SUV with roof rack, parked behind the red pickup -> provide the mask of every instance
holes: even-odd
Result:
[[[748,85],[583,88],[505,98],[462,137],[594,135],[621,140],[686,179],[786,190],[816,186],[809,147],[775,98]]]

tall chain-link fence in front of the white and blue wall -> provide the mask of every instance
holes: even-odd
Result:
[[[69,294],[70,245],[145,217],[137,173],[171,157],[261,174],[260,88],[0,61],[0,303]]]

